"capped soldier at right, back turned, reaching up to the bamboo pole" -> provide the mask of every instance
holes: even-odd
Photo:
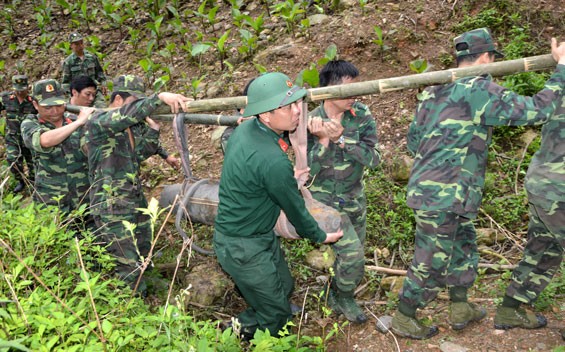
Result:
[[[486,28],[466,32],[454,43],[459,67],[491,63],[501,56]],[[481,204],[492,127],[543,123],[553,114],[565,85],[565,43],[558,47],[552,39],[551,44],[556,71],[533,97],[515,94],[489,75],[460,78],[422,92],[408,131],[414,165],[407,204],[414,209],[416,239],[392,321],[397,334],[415,339],[435,335],[437,327],[416,320],[416,310],[446,286],[453,329],[485,317],[483,308],[467,301],[467,290],[477,276],[472,221]]]

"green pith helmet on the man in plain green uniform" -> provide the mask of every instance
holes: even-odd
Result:
[[[257,77],[247,90],[244,117],[278,109],[306,95],[306,89],[295,86],[287,75],[270,72]]]

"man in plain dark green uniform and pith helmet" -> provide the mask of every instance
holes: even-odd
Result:
[[[291,319],[293,279],[273,228],[283,210],[298,234],[332,243],[342,231],[324,233],[308,213],[285,151],[284,131],[296,129],[306,90],[278,72],[256,78],[244,116],[226,151],[214,232],[214,250],[249,308],[239,314],[244,338],[255,330],[273,336]]]

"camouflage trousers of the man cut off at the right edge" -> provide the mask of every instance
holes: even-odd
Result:
[[[565,203],[530,203],[529,207],[528,242],[506,289],[507,296],[528,304],[536,300],[559,269],[565,246]]]

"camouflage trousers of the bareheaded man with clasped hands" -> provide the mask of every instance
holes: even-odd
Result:
[[[333,286],[340,292],[353,292],[363,279],[365,271],[365,253],[363,245],[349,217],[341,216],[343,237],[331,245],[336,259],[334,262]]]

